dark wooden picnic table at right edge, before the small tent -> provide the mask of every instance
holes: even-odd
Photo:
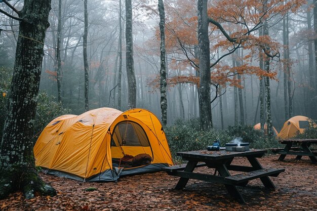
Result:
[[[317,151],[311,151],[309,148],[312,144],[317,144],[317,139],[281,139],[279,142],[286,144],[285,148],[272,149],[272,152],[281,154],[279,160],[283,161],[286,155],[291,154],[297,155],[297,160],[302,156],[309,156],[313,163],[317,163]]]

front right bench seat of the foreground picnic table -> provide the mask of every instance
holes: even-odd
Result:
[[[247,182],[250,180],[254,180],[254,179],[262,178],[262,177],[266,177],[266,176],[277,177],[281,172],[284,172],[284,171],[285,171],[284,168],[279,168],[279,169],[262,168],[260,170],[256,170],[256,171],[252,171],[252,172],[228,176],[228,177],[226,177],[226,179],[231,180],[233,184],[239,184],[239,183],[244,183],[244,182]]]

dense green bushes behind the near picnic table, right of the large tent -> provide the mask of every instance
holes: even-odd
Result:
[[[200,130],[199,119],[189,119],[175,121],[174,125],[168,126],[165,130],[167,140],[174,160],[179,161],[176,152],[202,150],[212,145],[215,140],[220,141],[221,147],[231,142],[234,138],[241,137],[243,142],[249,142],[250,148],[269,149],[280,147],[275,138],[267,140],[261,131],[254,130],[250,125],[229,126],[225,131]]]

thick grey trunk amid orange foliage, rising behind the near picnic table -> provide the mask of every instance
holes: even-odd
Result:
[[[208,37],[207,0],[198,0],[198,45],[200,65],[199,111],[202,130],[213,127],[210,97],[210,47]]]

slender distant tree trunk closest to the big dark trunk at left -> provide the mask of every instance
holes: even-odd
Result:
[[[62,33],[62,0],[58,1],[58,26],[57,26],[57,100],[62,103],[61,97],[61,33]]]

